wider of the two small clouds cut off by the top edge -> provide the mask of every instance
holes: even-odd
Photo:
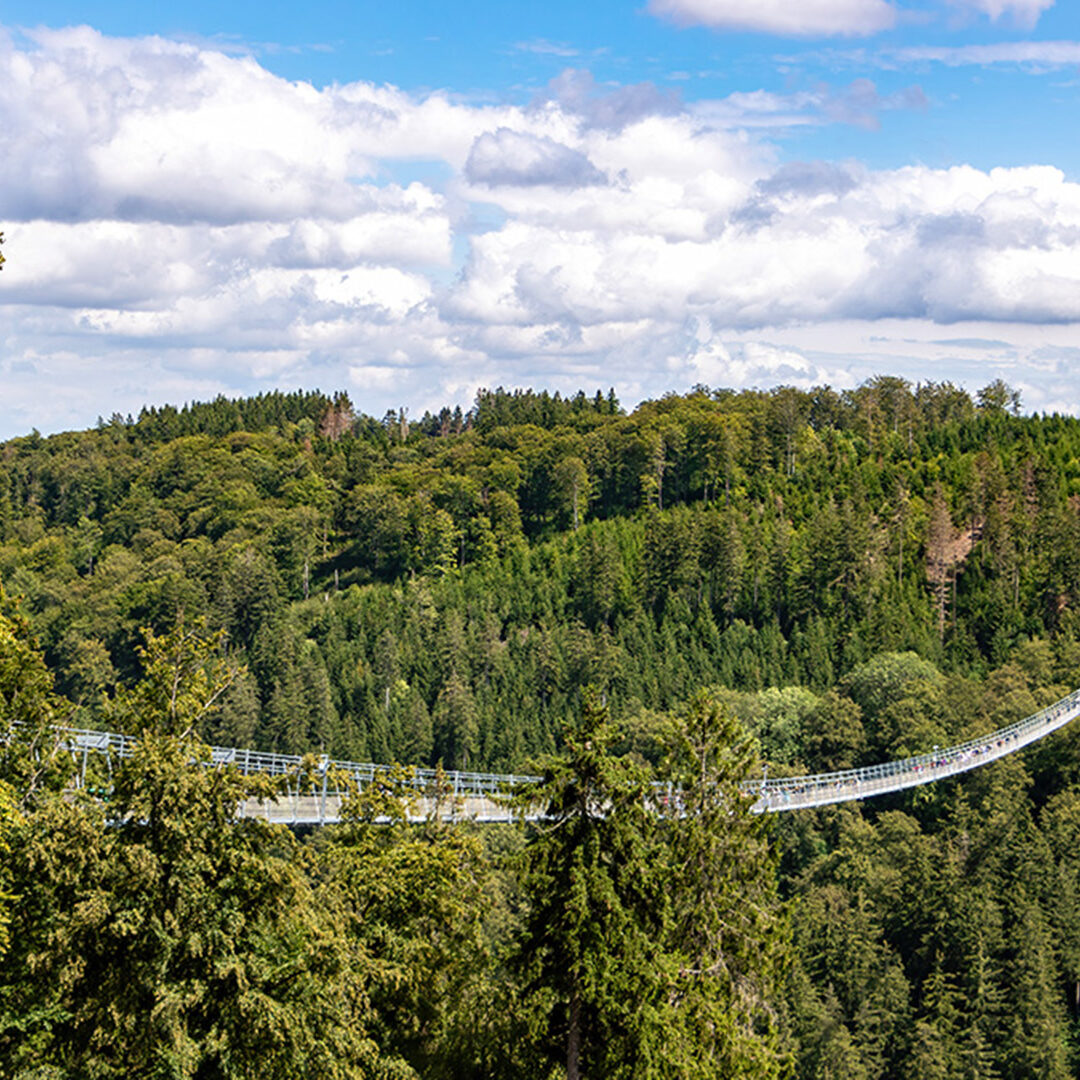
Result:
[[[1008,3],[1010,0],[983,2]],[[877,33],[896,22],[895,8],[885,0],[802,0],[800,3],[791,0],[753,0],[751,3],[746,0],[650,0],[649,11],[681,25],[757,30],[788,37],[858,37]]]

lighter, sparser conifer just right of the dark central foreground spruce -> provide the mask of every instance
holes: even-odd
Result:
[[[666,1011],[667,1064],[679,1077],[784,1075],[777,1022],[787,955],[767,818],[740,789],[756,755],[738,723],[698,694],[671,734],[665,774],[678,796],[665,819],[669,948],[677,967]]]

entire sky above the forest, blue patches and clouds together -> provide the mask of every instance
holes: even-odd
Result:
[[[0,437],[1004,377],[1080,408],[1080,4],[0,5]]]

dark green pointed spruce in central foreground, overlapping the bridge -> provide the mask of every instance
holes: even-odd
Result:
[[[662,1075],[665,904],[657,818],[642,770],[610,753],[606,711],[586,699],[566,755],[522,793],[546,821],[525,849],[526,986],[566,1076]]]

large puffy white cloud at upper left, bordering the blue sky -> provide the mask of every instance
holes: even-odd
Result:
[[[388,86],[315,90],[251,57],[87,27],[0,37],[0,215],[90,220],[346,220],[383,162],[460,168],[521,110]]]

